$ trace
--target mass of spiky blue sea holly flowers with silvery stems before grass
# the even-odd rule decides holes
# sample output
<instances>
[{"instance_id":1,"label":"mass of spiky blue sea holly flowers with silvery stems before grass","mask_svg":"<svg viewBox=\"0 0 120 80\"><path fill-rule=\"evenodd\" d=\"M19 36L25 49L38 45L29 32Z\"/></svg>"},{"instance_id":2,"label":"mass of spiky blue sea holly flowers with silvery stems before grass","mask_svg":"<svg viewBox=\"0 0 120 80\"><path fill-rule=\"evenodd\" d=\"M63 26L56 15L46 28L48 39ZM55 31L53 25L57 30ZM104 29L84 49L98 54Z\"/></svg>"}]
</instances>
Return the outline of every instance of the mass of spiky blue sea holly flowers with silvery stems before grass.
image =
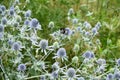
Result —
<instances>
[{"instance_id":1,"label":"mass of spiky blue sea holly flowers with silvery stems before grass","mask_svg":"<svg viewBox=\"0 0 120 80\"><path fill-rule=\"evenodd\" d=\"M20 10L19 5L19 0L8 9L0 5L0 73L5 80L120 80L120 59L114 60L114 67L109 68L107 60L95 56L101 44L96 36L102 26L100 22L94 27L87 21L82 23L70 8L69 27L64 28L64 33L51 33L53 42L49 44L37 33L42 30L39 20L31 17L31 10ZM54 27L51 21L48 28ZM65 47L69 42L75 42L70 50ZM10 67L4 65L5 58Z\"/></svg>"}]
</instances>

